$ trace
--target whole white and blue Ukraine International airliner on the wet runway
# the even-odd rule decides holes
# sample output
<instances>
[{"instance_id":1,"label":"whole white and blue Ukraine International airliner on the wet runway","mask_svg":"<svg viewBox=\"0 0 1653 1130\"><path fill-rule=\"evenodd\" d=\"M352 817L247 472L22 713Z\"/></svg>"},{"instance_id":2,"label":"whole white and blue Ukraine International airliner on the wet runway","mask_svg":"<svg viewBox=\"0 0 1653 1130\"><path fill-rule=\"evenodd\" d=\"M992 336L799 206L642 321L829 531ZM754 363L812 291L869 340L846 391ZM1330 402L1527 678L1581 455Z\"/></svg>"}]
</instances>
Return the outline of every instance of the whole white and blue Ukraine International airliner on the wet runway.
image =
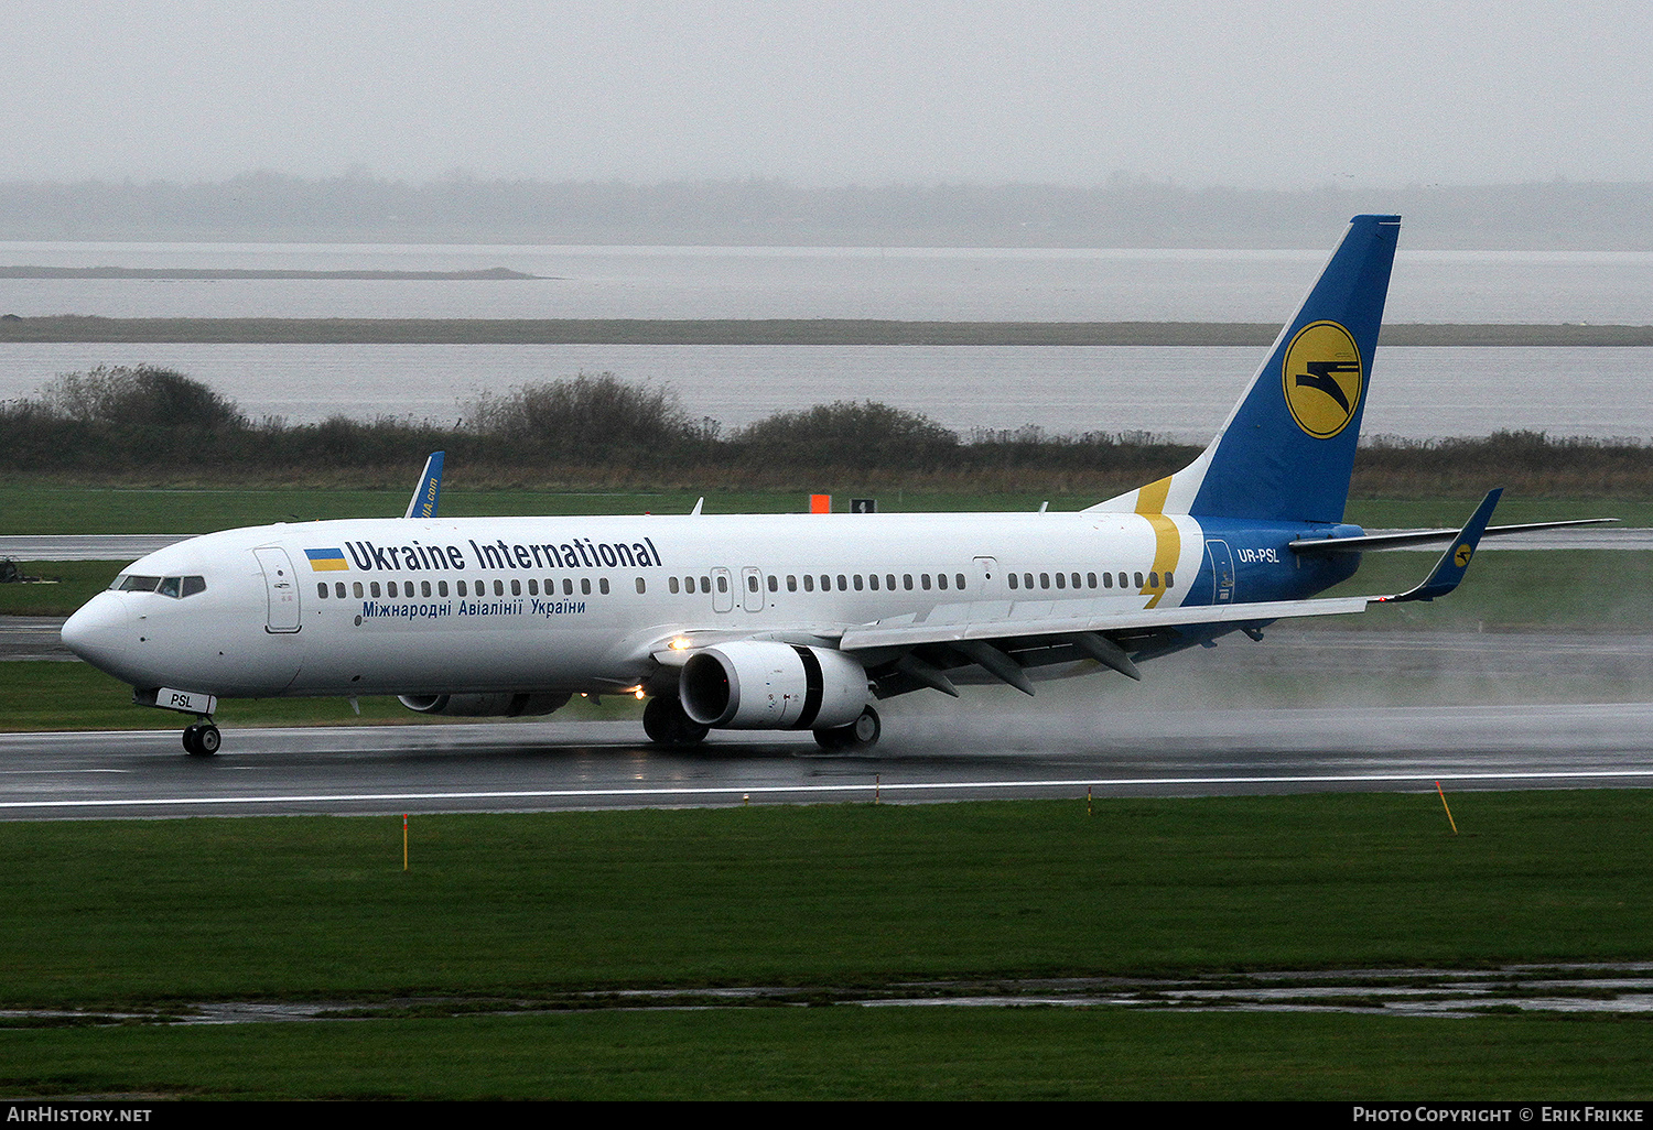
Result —
<instances>
[{"instance_id":1,"label":"whole white and blue Ukraine International airliner on the wet runway","mask_svg":"<svg viewBox=\"0 0 1653 1130\"><path fill-rule=\"evenodd\" d=\"M712 729L878 740L873 704L922 689L1137 664L1288 616L1431 600L1461 530L1344 524L1398 216L1355 216L1222 431L1187 468L1078 514L440 519L433 456L408 514L190 539L122 572L63 626L134 700L393 694L425 714L549 714L648 697L655 742ZM1560 525L1560 524L1547 524ZM1534 527L1503 527L1491 532ZM1311 600L1360 552L1451 539L1417 588Z\"/></svg>"}]
</instances>

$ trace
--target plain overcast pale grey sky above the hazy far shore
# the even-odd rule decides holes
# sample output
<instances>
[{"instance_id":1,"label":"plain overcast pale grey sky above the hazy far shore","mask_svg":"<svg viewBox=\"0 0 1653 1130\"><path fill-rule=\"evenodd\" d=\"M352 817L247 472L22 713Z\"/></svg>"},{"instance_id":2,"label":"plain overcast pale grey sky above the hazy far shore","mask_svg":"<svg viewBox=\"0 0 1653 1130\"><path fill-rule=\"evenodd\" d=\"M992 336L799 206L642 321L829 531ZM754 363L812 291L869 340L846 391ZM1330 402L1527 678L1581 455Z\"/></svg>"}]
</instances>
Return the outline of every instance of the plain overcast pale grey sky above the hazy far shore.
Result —
<instances>
[{"instance_id":1,"label":"plain overcast pale grey sky above the hazy far shore","mask_svg":"<svg viewBox=\"0 0 1653 1130\"><path fill-rule=\"evenodd\" d=\"M3 0L0 177L1653 180L1653 3Z\"/></svg>"}]
</instances>

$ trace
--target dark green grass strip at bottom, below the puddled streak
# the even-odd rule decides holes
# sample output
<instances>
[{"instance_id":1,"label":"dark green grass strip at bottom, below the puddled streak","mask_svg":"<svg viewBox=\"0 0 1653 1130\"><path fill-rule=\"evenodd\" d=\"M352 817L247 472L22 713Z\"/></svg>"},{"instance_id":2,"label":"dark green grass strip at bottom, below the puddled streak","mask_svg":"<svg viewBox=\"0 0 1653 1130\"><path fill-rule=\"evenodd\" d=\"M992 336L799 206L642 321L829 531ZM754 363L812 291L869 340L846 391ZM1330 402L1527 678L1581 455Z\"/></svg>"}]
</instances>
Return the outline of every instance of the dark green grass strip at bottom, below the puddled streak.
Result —
<instances>
[{"instance_id":1,"label":"dark green grass strip at bottom, below the puddled streak","mask_svg":"<svg viewBox=\"0 0 1653 1130\"><path fill-rule=\"evenodd\" d=\"M175 1099L1645 1100L1600 1016L770 1008L3 1034L0 1090Z\"/></svg>"}]
</instances>

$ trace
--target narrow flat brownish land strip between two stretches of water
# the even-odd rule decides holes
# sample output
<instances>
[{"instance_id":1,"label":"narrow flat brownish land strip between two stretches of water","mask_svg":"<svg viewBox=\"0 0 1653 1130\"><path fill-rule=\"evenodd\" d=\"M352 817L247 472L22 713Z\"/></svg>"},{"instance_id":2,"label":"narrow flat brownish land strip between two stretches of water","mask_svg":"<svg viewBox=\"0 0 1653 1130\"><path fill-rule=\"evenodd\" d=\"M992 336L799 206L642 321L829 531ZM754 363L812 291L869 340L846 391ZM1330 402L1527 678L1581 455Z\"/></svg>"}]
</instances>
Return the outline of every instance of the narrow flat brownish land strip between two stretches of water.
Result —
<instances>
[{"instance_id":1,"label":"narrow flat brownish land strip between two stretches of water","mask_svg":"<svg viewBox=\"0 0 1653 1130\"><path fill-rule=\"evenodd\" d=\"M0 342L271 345L1268 345L1251 322L18 317ZM1653 345L1653 325L1385 325L1384 345Z\"/></svg>"}]
</instances>

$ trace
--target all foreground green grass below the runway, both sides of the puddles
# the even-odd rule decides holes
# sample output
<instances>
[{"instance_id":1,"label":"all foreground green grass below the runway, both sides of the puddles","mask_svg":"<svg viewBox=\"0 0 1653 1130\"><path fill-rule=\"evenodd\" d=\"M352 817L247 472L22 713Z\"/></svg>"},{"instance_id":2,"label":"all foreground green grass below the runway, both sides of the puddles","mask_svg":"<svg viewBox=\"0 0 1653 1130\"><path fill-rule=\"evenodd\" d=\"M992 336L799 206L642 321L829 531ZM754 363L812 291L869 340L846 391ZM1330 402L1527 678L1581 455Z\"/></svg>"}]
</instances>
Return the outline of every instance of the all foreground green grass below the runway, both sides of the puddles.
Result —
<instances>
[{"instance_id":1,"label":"all foreground green grass below the runway, both sides of the puddles","mask_svg":"<svg viewBox=\"0 0 1653 1130\"><path fill-rule=\"evenodd\" d=\"M1650 957L1653 793L1458 795L1453 814L1456 836L1433 795L415 816L407 874L393 816L7 823L0 1004L430 1003L306 1024L0 1021L0 1092L1648 1097L1636 1016L562 996Z\"/></svg>"}]
</instances>

